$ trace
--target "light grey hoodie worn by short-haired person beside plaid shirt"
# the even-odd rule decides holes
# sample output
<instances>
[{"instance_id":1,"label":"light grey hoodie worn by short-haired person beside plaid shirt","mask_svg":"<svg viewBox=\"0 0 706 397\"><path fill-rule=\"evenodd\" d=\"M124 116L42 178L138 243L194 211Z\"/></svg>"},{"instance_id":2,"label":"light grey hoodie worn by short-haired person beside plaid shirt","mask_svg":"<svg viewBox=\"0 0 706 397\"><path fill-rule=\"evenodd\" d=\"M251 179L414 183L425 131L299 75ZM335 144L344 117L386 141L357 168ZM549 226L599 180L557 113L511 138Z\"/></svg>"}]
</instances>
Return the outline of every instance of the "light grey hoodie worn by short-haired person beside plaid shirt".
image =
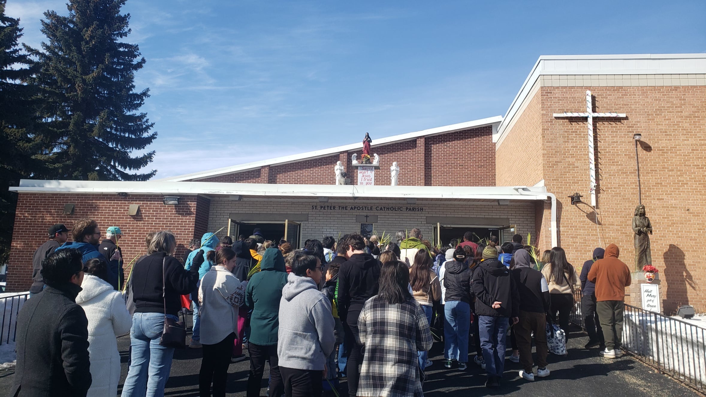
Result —
<instances>
[{"instance_id":1,"label":"light grey hoodie worn by short-haired person beside plaid shirt","mask_svg":"<svg viewBox=\"0 0 706 397\"><path fill-rule=\"evenodd\" d=\"M290 273L280 300L280 367L323 370L335 344L334 326L331 304L316 283Z\"/></svg>"}]
</instances>

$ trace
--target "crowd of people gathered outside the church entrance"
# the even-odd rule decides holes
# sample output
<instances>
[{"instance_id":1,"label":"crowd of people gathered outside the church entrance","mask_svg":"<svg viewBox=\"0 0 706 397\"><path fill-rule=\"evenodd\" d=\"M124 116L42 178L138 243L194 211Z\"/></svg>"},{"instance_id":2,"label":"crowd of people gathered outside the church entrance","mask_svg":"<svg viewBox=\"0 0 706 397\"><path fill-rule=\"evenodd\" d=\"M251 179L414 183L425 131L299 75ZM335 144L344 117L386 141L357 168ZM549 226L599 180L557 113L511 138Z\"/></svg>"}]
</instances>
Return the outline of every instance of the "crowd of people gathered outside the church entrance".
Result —
<instances>
[{"instance_id":1,"label":"crowd of people gathered outside the church entrance","mask_svg":"<svg viewBox=\"0 0 706 397\"><path fill-rule=\"evenodd\" d=\"M18 315L14 396L115 396L116 337L128 331L121 396L163 396L174 350L187 346L179 320L187 312L188 347L203 350L201 396L225 396L229 365L246 359L244 348L249 397L260 395L265 363L270 397L321 396L343 379L349 396L422 396L435 339L444 367L465 371L473 338L489 388L503 381L506 359L534 381L550 375L547 325L568 330L577 290L585 348L622 354L630 271L615 244L594 250L579 273L561 247L538 260L520 235L500 244L497 236L473 242L468 232L441 248L415 228L392 242L349 234L294 249L256 229L235 241L206 233L179 261L172 232L157 231L124 280L119 227L102 242L90 219L73 224L72 242L64 225L48 232Z\"/></svg>"}]
</instances>

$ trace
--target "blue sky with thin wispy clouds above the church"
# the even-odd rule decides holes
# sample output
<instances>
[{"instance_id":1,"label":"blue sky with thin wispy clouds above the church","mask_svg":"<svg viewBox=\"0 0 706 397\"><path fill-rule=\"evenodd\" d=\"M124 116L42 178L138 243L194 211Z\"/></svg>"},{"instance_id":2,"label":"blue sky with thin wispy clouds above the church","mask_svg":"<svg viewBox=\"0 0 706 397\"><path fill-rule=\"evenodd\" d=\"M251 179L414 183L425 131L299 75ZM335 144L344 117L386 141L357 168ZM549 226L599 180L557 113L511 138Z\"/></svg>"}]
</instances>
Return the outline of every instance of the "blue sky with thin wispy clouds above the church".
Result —
<instances>
[{"instance_id":1,"label":"blue sky with thin wispy clouds above the church","mask_svg":"<svg viewBox=\"0 0 706 397\"><path fill-rule=\"evenodd\" d=\"M7 0L23 42L47 9ZM504 115L543 54L706 52L705 1L128 0L157 177Z\"/></svg>"}]
</instances>

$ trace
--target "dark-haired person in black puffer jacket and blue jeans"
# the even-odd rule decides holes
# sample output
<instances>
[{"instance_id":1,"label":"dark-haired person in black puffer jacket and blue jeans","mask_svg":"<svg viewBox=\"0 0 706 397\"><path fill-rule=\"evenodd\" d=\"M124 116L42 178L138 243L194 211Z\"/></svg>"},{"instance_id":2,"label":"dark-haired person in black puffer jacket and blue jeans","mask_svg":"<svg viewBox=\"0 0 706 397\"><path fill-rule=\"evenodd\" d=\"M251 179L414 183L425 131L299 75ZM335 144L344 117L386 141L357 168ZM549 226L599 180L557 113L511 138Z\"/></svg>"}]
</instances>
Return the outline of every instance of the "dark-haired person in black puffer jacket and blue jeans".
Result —
<instances>
[{"instance_id":1,"label":"dark-haired person in black puffer jacket and blue jeans","mask_svg":"<svg viewBox=\"0 0 706 397\"><path fill-rule=\"evenodd\" d=\"M468 362L468 330L471 325L471 269L466 266L466 252L457 247L453 261L444 263L444 366L450 368L458 361L458 369L465 370Z\"/></svg>"}]
</instances>

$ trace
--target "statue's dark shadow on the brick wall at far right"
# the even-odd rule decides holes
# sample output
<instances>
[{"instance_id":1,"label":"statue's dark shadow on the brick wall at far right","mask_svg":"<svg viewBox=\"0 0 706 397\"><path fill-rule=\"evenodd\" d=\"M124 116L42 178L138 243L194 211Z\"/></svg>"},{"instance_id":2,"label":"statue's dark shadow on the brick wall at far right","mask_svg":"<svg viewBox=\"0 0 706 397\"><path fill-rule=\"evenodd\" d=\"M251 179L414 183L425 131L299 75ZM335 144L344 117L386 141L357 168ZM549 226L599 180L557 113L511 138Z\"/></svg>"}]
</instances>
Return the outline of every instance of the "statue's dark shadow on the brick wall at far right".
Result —
<instances>
[{"instance_id":1,"label":"statue's dark shadow on the brick wall at far right","mask_svg":"<svg viewBox=\"0 0 706 397\"><path fill-rule=\"evenodd\" d=\"M696 289L694 278L686 268L686 256L681 248L669 244L669 249L664 252L664 280L666 281L666 295L662 302L664 314L673 314L681 304L689 304L688 288Z\"/></svg>"}]
</instances>

